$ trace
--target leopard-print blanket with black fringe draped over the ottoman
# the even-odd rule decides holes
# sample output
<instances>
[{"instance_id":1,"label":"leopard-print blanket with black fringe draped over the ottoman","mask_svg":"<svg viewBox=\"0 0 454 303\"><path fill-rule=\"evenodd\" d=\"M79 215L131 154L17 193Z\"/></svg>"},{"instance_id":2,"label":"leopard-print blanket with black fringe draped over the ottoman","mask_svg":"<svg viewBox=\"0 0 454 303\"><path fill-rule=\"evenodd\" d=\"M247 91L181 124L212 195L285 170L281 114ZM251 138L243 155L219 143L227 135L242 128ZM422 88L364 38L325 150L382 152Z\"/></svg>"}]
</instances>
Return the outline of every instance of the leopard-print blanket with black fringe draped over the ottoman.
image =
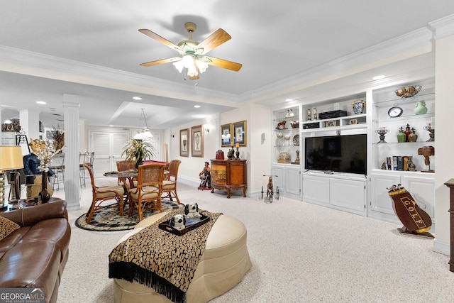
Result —
<instances>
[{"instance_id":1,"label":"leopard-print blanket with black fringe draped over the ottoman","mask_svg":"<svg viewBox=\"0 0 454 303\"><path fill-rule=\"evenodd\" d=\"M206 224L177 236L163 231L158 224L175 214L184 214L184 207L143 228L118 244L109 255L109 277L153 287L173 302L186 302L186 292L205 250L211 226L221 213L210 213Z\"/></svg>"}]
</instances>

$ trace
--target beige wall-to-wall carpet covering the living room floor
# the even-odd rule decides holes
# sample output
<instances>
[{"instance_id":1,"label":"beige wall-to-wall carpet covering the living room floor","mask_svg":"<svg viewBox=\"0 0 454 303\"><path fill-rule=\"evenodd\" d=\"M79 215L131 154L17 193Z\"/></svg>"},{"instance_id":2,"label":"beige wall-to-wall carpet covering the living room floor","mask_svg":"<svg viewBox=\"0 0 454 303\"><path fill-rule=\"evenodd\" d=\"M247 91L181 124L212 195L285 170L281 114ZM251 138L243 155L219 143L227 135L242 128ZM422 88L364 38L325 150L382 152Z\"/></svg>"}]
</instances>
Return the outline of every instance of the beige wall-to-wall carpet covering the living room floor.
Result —
<instances>
[{"instance_id":1,"label":"beige wall-to-wall carpet covering the living room floor","mask_svg":"<svg viewBox=\"0 0 454 303\"><path fill-rule=\"evenodd\" d=\"M240 192L226 199L225 192L198 191L197 185L178 185L182 202L243 221L253 262L243 282L211 302L454 302L449 258L432 251L431 239L314 204L283 197L270 204ZM82 210L70 212L70 259L58 302L114 302L108 255L128 231L74 227L90 194L84 189Z\"/></svg>"}]
</instances>

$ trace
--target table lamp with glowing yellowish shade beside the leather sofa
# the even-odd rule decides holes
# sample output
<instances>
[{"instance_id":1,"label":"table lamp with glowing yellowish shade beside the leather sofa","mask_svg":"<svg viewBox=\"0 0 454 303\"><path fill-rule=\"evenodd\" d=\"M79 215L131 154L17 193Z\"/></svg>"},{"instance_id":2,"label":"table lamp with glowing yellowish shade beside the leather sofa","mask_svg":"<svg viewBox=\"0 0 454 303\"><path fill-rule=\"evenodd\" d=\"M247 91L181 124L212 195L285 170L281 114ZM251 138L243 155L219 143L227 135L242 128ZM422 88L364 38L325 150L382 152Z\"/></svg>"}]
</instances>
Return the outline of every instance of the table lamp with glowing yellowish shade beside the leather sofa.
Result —
<instances>
[{"instance_id":1,"label":"table lamp with glowing yellowish shade beside the leather sofa","mask_svg":"<svg viewBox=\"0 0 454 303\"><path fill-rule=\"evenodd\" d=\"M2 175L0 177L0 207L4 206L5 203L5 177L3 172L6 170L18 170L21 168L23 168L21 146L0 145L0 173ZM13 182L11 182L11 189L14 189L13 199L21 199L21 184L19 181L19 173L13 172L13 174L11 175L13 175Z\"/></svg>"}]
</instances>

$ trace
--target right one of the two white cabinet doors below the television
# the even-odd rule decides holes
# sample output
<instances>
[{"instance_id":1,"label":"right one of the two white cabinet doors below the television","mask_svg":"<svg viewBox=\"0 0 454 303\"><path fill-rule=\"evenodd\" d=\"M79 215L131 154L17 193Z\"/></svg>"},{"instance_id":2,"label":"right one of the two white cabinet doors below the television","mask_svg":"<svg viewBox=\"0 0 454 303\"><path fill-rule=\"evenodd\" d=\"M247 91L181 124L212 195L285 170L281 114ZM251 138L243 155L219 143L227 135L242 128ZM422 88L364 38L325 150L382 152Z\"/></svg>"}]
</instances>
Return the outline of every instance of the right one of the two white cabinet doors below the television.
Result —
<instances>
[{"instance_id":1,"label":"right one of the two white cabinet doors below the television","mask_svg":"<svg viewBox=\"0 0 454 303\"><path fill-rule=\"evenodd\" d=\"M355 214L366 214L366 182L359 180L330 180L330 204L350 209Z\"/></svg>"}]
</instances>

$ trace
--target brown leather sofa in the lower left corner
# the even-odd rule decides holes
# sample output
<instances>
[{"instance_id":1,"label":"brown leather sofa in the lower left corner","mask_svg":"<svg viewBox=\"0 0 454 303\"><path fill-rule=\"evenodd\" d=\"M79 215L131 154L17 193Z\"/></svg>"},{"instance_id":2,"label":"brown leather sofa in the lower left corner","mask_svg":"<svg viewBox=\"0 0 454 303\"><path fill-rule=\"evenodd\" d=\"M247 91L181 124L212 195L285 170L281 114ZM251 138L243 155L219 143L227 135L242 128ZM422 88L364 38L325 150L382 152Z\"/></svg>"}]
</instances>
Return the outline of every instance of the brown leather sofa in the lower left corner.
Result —
<instances>
[{"instance_id":1,"label":"brown leather sofa in the lower left corner","mask_svg":"<svg viewBox=\"0 0 454 303\"><path fill-rule=\"evenodd\" d=\"M0 288L44 288L45 301L57 302L71 238L66 202L50 198L0 216L20 226L0 241Z\"/></svg>"}]
</instances>

